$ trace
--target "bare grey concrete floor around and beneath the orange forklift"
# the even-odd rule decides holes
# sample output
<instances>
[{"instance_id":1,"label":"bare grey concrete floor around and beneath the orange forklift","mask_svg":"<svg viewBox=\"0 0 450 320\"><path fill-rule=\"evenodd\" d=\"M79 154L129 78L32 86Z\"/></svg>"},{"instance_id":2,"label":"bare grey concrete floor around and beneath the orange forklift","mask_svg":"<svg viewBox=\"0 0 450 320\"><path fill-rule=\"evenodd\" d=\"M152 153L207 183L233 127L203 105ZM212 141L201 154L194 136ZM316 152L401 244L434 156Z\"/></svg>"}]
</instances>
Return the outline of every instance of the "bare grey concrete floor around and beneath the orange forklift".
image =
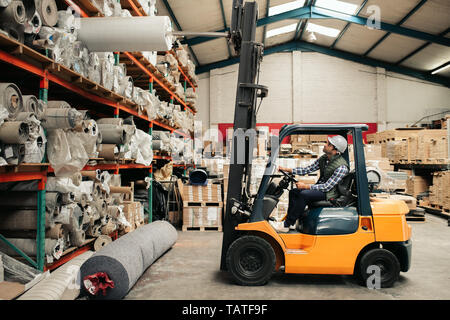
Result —
<instances>
[{"instance_id":1,"label":"bare grey concrete floor around and beneath the orange forklift","mask_svg":"<svg viewBox=\"0 0 450 320\"><path fill-rule=\"evenodd\" d=\"M411 222L411 269L393 288L369 290L350 276L276 273L263 287L235 285L219 271L222 233L179 231L174 247L156 261L125 299L335 300L450 299L450 227L440 217Z\"/></svg>"}]
</instances>

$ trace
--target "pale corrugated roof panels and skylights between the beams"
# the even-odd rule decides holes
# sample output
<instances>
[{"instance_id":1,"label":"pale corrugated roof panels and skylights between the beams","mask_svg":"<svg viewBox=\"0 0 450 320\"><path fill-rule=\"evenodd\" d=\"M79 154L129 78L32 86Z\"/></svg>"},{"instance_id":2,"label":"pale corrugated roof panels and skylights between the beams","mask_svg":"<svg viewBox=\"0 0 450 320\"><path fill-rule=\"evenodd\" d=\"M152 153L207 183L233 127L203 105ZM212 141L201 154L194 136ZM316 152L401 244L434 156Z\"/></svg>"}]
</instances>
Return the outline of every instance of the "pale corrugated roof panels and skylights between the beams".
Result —
<instances>
[{"instance_id":1,"label":"pale corrugated roof panels and skylights between the beams","mask_svg":"<svg viewBox=\"0 0 450 320\"><path fill-rule=\"evenodd\" d=\"M224 12L222 13L220 2ZM259 6L258 18L266 17L267 6L274 7L292 0L257 0ZM367 18L373 16L373 9L379 9L382 29L369 29L361 25L361 21L350 21L337 18L318 19L318 16L309 16L309 23L338 29L341 34L338 38L325 36L317 32L311 37L310 32L303 31L304 20L290 19L260 26L257 28L257 41L263 42L264 29L272 30L281 26L302 22L298 33L290 32L265 39L267 48L279 46L283 43L295 43L295 35L302 34L299 41L309 42L321 48L337 50L338 52L352 53L363 58L372 59L381 63L400 65L422 73L442 66L450 61L450 46L430 43L436 38L429 38L428 34L438 39L448 39L450 27L450 1L448 0L339 0L356 4L360 9L358 16L346 16L351 19ZM315 0L306 0L305 5L314 7ZM233 0L157 0L158 15L170 16L178 21L185 31L222 31L229 28L231 23ZM168 6L170 10L168 10ZM361 6L363 6L361 8ZM375 7L374 7L375 6ZM225 20L223 19L225 16ZM270 18L271 19L271 18ZM350 21L350 22L349 22ZM174 24L176 25L176 23ZM176 27L175 27L176 28ZM391 29L389 29L391 28ZM392 29L394 28L394 29ZM397 28L397 29L395 29ZM399 29L401 28L401 30ZM407 28L407 29L405 29ZM177 29L177 28L176 28ZM412 29L412 31L410 30ZM394 30L392 33L389 30ZM406 30L406 31L405 31ZM397 32L399 31L399 32ZM419 36L415 33L419 31ZM404 33L406 32L406 34ZM403 34L402 34L403 33ZM315 38L315 39L312 39ZM430 40L431 39L431 40ZM192 39L188 39L192 40ZM192 50L198 58L200 66L214 64L230 58L225 39L213 39L192 45ZM434 41L439 42L439 41ZM442 42L442 41L441 41ZM420 49L420 50L419 50ZM321 50L323 51L323 50ZM417 52L415 52L417 51ZM398 64L400 62L400 64ZM198 66L199 67L199 66ZM447 70L439 76L450 77Z\"/></svg>"}]
</instances>

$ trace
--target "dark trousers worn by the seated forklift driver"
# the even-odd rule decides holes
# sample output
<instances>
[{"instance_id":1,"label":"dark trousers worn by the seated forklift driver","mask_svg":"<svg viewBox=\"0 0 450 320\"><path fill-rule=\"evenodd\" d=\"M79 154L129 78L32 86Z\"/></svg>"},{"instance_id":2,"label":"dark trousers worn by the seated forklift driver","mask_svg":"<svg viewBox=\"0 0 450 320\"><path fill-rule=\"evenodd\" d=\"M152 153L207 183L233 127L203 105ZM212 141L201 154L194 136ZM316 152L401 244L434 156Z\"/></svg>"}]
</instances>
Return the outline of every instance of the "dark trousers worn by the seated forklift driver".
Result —
<instances>
[{"instance_id":1,"label":"dark trousers worn by the seated forklift driver","mask_svg":"<svg viewBox=\"0 0 450 320\"><path fill-rule=\"evenodd\" d=\"M289 191L289 208L284 226L295 224L298 218L304 217L305 207L313 202L326 200L326 195L318 190L292 189Z\"/></svg>"}]
</instances>

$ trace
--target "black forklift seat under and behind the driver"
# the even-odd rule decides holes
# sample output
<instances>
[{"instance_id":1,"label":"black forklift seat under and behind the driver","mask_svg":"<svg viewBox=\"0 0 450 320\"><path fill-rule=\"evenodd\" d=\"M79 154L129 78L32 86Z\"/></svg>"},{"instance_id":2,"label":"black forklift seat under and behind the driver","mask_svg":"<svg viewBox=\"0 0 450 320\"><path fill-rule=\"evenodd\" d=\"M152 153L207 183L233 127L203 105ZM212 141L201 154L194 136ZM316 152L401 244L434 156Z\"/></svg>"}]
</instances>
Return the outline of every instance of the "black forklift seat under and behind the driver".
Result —
<instances>
[{"instance_id":1,"label":"black forklift seat under and behind the driver","mask_svg":"<svg viewBox=\"0 0 450 320\"><path fill-rule=\"evenodd\" d=\"M349 172L338 184L339 197L330 200L321 200L311 203L312 208L342 208L356 204L356 197L352 194L352 185L356 183L355 171Z\"/></svg>"}]
</instances>

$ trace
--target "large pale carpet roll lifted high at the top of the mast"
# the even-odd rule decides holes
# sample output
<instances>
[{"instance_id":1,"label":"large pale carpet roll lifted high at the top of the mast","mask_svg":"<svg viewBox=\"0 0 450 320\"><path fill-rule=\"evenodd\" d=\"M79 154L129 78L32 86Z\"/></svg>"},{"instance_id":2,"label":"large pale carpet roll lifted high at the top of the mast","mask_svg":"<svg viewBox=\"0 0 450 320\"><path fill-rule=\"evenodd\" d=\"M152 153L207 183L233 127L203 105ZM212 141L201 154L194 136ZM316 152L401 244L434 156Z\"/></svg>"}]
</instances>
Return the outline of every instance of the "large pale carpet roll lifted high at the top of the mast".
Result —
<instances>
[{"instance_id":1,"label":"large pale carpet roll lifted high at the top of the mast","mask_svg":"<svg viewBox=\"0 0 450 320\"><path fill-rule=\"evenodd\" d=\"M172 26L169 17L102 17L79 20L78 38L90 51L172 49Z\"/></svg>"}]
</instances>

